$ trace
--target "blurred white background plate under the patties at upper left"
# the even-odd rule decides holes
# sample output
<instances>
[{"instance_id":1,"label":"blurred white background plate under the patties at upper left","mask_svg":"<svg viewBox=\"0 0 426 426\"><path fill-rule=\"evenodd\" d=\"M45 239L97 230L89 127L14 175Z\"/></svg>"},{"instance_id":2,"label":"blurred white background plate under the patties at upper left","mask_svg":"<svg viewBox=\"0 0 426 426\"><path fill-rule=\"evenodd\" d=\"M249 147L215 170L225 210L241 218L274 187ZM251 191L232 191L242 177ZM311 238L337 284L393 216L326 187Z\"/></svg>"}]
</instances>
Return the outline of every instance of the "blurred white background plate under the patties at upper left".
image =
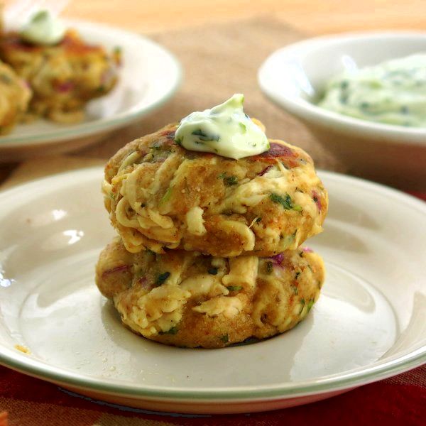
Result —
<instances>
[{"instance_id":1,"label":"blurred white background plate under the patties at upper left","mask_svg":"<svg viewBox=\"0 0 426 426\"><path fill-rule=\"evenodd\" d=\"M148 38L97 23L67 21L67 24L76 28L88 43L102 45L108 51L121 48L119 82L107 96L89 102L82 123L62 125L38 120L19 124L9 135L0 136L0 162L87 145L160 107L180 84L178 61Z\"/></svg>"}]
</instances>

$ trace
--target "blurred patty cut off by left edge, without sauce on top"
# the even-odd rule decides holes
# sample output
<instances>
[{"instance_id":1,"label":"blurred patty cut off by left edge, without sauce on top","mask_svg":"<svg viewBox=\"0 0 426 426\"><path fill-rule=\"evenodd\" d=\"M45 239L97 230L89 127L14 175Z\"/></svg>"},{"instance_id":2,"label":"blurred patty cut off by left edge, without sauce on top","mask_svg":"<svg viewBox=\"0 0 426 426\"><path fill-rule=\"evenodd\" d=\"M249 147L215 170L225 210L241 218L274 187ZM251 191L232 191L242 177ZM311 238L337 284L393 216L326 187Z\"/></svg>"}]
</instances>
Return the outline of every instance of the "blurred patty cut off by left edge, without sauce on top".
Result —
<instances>
[{"instance_id":1,"label":"blurred patty cut off by left edge, without sauce on top","mask_svg":"<svg viewBox=\"0 0 426 426\"><path fill-rule=\"evenodd\" d=\"M30 98L26 83L0 61L0 135L9 133L22 118Z\"/></svg>"}]
</instances>

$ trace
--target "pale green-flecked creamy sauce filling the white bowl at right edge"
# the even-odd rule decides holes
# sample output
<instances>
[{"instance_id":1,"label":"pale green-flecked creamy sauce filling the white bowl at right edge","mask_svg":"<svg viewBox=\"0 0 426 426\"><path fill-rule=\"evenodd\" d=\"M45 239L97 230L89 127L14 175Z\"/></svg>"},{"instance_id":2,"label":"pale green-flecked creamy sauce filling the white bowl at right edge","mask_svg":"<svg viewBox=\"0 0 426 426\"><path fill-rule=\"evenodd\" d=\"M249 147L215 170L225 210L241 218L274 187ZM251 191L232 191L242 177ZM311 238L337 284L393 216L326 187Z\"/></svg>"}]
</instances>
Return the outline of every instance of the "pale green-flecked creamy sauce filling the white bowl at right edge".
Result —
<instances>
[{"instance_id":1,"label":"pale green-flecked creamy sauce filling the white bowl at right edge","mask_svg":"<svg viewBox=\"0 0 426 426\"><path fill-rule=\"evenodd\" d=\"M357 119L426 127L426 54L334 77L318 106Z\"/></svg>"}]
</instances>

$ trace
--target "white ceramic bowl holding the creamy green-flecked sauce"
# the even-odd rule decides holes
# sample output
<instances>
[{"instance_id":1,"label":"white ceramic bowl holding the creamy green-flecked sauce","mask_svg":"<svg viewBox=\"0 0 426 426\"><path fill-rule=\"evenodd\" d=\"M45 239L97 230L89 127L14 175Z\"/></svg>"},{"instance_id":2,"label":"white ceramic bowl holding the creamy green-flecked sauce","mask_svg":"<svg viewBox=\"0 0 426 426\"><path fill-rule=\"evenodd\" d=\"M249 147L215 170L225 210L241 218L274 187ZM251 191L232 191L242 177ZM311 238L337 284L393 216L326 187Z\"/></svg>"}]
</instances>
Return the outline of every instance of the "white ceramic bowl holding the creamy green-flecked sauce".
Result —
<instances>
[{"instance_id":1,"label":"white ceramic bowl holding the creamy green-flecked sauce","mask_svg":"<svg viewBox=\"0 0 426 426\"><path fill-rule=\"evenodd\" d=\"M275 51L258 82L300 119L350 173L403 189L426 190L426 128L354 119L317 107L324 84L348 68L426 52L426 33L354 33L312 38Z\"/></svg>"}]
</instances>

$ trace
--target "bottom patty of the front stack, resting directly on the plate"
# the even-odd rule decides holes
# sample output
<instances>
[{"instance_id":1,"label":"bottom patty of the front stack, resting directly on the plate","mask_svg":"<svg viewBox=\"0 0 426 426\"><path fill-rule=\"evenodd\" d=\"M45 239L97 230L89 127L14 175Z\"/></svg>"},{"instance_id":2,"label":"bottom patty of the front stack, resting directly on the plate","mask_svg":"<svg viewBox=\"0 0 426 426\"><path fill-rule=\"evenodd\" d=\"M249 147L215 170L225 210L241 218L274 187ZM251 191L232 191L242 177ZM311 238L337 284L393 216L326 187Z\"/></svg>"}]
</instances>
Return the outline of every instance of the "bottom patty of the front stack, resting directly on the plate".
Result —
<instances>
[{"instance_id":1,"label":"bottom patty of the front stack, resting directly on the plate","mask_svg":"<svg viewBox=\"0 0 426 426\"><path fill-rule=\"evenodd\" d=\"M97 286L126 327L185 347L220 348L285 332L306 317L323 282L322 258L302 248L268 258L130 253L116 237L96 267Z\"/></svg>"}]
</instances>

